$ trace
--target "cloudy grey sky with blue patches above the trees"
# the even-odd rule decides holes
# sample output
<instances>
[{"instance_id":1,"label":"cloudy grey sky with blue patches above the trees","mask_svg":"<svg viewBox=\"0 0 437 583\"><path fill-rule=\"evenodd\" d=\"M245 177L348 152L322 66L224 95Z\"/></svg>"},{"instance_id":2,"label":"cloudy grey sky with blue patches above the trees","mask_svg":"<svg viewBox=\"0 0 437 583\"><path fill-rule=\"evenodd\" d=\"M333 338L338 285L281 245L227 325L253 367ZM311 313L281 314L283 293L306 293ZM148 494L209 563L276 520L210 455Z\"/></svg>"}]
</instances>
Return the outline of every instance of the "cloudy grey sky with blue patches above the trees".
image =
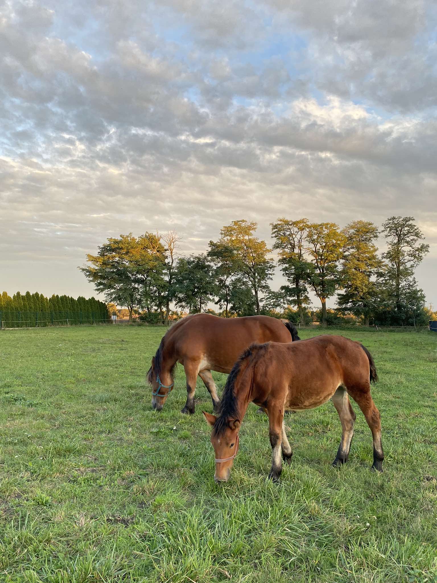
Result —
<instances>
[{"instance_id":1,"label":"cloudy grey sky with blue patches above the trees","mask_svg":"<svg viewBox=\"0 0 437 583\"><path fill-rule=\"evenodd\" d=\"M0 0L0 290L89 297L121 233L408 215L437 307L436 31L434 0Z\"/></svg>"}]
</instances>

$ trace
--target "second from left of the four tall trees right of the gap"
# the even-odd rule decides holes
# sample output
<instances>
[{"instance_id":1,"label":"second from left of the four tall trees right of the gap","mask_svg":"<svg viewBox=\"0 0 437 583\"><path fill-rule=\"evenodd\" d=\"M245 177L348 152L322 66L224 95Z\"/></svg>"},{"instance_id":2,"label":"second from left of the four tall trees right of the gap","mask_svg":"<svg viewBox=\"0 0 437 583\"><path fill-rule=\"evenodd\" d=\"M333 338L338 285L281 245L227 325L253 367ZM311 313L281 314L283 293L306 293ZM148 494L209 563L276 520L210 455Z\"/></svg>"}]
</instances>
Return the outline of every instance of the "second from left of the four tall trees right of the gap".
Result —
<instances>
[{"instance_id":1,"label":"second from left of the four tall trees right of the gap","mask_svg":"<svg viewBox=\"0 0 437 583\"><path fill-rule=\"evenodd\" d=\"M310 223L306 251L312 258L308 281L322 304L322 324L327 324L326 299L340 287L339 261L346 237L335 223Z\"/></svg>"}]
</instances>

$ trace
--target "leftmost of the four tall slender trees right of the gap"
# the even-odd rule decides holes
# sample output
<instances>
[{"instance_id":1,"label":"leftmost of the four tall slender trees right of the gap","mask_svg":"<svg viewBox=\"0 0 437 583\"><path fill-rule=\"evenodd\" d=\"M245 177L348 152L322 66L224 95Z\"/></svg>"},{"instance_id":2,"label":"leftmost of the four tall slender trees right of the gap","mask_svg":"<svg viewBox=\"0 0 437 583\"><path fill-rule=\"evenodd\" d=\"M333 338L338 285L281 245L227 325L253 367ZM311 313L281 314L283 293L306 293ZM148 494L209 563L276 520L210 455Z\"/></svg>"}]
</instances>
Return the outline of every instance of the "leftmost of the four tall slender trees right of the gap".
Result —
<instances>
[{"instance_id":1,"label":"leftmost of the four tall slender trees right of the gap","mask_svg":"<svg viewBox=\"0 0 437 583\"><path fill-rule=\"evenodd\" d=\"M273 248L279 250L279 265L289 285L281 286L292 305L305 323L304 306L310 303L308 296L308 261L305 258L305 236L308 219L289 220L285 217L270 223Z\"/></svg>"}]
</instances>

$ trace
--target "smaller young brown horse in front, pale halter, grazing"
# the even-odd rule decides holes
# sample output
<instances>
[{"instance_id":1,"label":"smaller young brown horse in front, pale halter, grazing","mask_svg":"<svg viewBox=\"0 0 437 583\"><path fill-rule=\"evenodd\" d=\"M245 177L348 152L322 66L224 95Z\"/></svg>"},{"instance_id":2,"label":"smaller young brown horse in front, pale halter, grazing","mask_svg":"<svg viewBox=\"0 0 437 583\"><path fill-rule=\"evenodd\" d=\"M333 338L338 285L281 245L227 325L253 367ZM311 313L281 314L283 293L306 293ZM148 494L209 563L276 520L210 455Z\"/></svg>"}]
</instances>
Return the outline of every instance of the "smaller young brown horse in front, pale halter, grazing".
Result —
<instances>
[{"instance_id":1,"label":"smaller young brown horse in front, pale halter, grazing","mask_svg":"<svg viewBox=\"0 0 437 583\"><path fill-rule=\"evenodd\" d=\"M384 454L381 422L370 393L377 381L369 351L343 336L317 336L291 344L250 346L228 376L218 417L203 412L213 427L211 442L216 454L216 482L227 482L238 451L238 433L249 403L262 406L269 416L272 468L278 480L281 451L289 462L292 451L284 428L284 410L305 410L332 399L343 434L333 465L347 461L354 431L355 413L350 395L358 404L373 436L373 469L382 472Z\"/></svg>"}]
</instances>

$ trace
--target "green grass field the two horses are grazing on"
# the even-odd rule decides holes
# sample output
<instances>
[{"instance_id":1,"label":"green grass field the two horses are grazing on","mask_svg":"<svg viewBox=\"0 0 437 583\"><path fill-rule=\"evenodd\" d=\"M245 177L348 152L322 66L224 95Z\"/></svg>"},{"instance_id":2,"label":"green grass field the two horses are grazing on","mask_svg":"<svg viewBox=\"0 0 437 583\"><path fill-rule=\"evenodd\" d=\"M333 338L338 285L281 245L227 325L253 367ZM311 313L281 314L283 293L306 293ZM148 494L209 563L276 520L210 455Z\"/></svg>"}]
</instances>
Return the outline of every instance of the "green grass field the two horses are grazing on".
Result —
<instances>
[{"instance_id":1,"label":"green grass field the two horses are grazing on","mask_svg":"<svg viewBox=\"0 0 437 583\"><path fill-rule=\"evenodd\" d=\"M302 338L315 335L304 331ZM280 483L267 417L251 405L227 484L198 381L164 410L145 373L162 328L0 332L0 581L437 581L437 334L344 332L373 353L385 472L357 412L346 466L330 465L332 403L286 417L294 455ZM225 375L214 373L221 393Z\"/></svg>"}]
</instances>

